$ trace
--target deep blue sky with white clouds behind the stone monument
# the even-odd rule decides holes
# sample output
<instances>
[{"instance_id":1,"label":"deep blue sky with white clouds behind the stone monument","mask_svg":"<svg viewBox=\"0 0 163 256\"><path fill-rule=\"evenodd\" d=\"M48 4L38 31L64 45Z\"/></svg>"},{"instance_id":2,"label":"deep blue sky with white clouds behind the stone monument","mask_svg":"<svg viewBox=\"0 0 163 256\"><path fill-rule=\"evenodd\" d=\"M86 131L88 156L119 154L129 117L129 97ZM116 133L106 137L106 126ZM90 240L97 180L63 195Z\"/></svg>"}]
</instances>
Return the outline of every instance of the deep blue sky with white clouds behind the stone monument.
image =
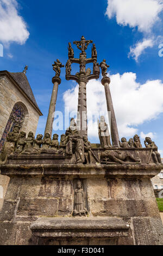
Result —
<instances>
[{"instance_id":1,"label":"deep blue sky with white clouds behind the stone monument","mask_svg":"<svg viewBox=\"0 0 163 256\"><path fill-rule=\"evenodd\" d=\"M163 157L163 57L158 54L163 43L162 1L49 0L45 4L0 0L0 4L0 43L4 46L0 70L21 72L29 66L27 78L43 113L36 133L43 134L45 129L53 87L52 63L59 58L66 64L68 42L84 35L96 44L98 62L106 58L110 65L120 137L129 139L138 133L143 144L143 138L150 135ZM78 57L79 50L72 46ZM87 49L90 56L91 46ZM79 70L77 65L72 68L72 74ZM64 112L65 106L75 111L77 84L65 80L64 68L61 80L56 111ZM87 105L90 112L106 109L100 80L87 84ZM59 135L63 132L57 131ZM89 129L89 139L99 142L96 130Z\"/></svg>"}]
</instances>

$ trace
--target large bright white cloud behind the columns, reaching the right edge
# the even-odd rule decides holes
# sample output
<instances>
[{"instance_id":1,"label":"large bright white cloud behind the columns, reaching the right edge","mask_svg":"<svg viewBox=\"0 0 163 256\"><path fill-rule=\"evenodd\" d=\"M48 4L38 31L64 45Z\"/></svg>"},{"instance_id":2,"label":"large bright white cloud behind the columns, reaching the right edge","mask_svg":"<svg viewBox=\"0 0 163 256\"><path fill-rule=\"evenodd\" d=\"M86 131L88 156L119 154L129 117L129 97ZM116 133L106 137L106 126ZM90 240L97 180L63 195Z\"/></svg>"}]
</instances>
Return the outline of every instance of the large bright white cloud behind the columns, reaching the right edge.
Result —
<instances>
[{"instance_id":1,"label":"large bright white cloud behind the columns, reaching the right edge","mask_svg":"<svg viewBox=\"0 0 163 256\"><path fill-rule=\"evenodd\" d=\"M158 117L163 112L163 84L160 80L136 82L136 74L111 75L110 90L117 119L120 137L131 137L138 133L136 126ZM64 93L65 106L77 111L78 86ZM73 103L72 103L73 102ZM100 81L92 80L87 84L88 135L98 138L97 119L91 127L91 115L106 112L104 87Z\"/></svg>"}]
</instances>

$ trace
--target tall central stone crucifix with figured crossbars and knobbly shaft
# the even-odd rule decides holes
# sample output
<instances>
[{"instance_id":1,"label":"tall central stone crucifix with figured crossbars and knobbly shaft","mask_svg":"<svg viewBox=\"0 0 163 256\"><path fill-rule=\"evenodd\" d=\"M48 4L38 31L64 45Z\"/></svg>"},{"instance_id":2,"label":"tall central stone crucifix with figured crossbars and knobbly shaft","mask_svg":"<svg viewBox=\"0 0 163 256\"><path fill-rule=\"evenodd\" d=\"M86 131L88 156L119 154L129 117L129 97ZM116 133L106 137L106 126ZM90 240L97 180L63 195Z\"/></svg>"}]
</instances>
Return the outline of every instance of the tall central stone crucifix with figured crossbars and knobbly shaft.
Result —
<instances>
[{"instance_id":1,"label":"tall central stone crucifix with figured crossbars and knobbly shaft","mask_svg":"<svg viewBox=\"0 0 163 256\"><path fill-rule=\"evenodd\" d=\"M82 51L80 57L74 58L74 52L71 43L68 43L68 60L66 63L66 80L74 80L79 84L79 95L78 95L78 114L77 114L77 128L80 131L80 135L87 136L87 105L86 105L86 84L92 79L99 78L99 64L97 63L97 51L96 46L92 46L92 57L86 58L87 46L92 43L92 40L86 40L82 36L80 41L74 41L78 49ZM78 63L80 71L76 75L71 75L71 64ZM93 63L93 72L90 68L86 69L86 64ZM92 72L92 74L91 74Z\"/></svg>"}]
</instances>

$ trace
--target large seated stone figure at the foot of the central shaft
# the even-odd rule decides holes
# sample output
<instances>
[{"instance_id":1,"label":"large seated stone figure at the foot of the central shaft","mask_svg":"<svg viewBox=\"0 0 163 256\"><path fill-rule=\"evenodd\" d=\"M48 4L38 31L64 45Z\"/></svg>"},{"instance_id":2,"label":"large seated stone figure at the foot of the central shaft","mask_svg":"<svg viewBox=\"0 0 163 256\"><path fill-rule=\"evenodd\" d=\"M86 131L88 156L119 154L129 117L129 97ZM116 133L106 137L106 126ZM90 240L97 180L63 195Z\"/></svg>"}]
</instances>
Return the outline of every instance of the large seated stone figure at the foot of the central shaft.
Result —
<instances>
[{"instance_id":1,"label":"large seated stone figure at the foot of the central shaft","mask_svg":"<svg viewBox=\"0 0 163 256\"><path fill-rule=\"evenodd\" d=\"M66 130L67 147L66 154L76 155L76 163L84 163L84 143L83 138L80 136L79 131L76 128L77 124L74 118L71 118L70 127Z\"/></svg>"}]
</instances>

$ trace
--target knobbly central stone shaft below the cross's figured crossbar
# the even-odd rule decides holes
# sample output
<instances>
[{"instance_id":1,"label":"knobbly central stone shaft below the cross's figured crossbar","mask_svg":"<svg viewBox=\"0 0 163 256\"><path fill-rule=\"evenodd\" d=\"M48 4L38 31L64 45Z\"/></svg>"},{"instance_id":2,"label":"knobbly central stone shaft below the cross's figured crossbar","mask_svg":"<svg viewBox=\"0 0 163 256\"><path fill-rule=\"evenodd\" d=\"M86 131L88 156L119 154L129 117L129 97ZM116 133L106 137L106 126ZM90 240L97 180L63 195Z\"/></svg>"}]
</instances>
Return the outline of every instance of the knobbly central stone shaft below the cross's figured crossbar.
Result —
<instances>
[{"instance_id":1,"label":"knobbly central stone shaft below the cross's figured crossbar","mask_svg":"<svg viewBox=\"0 0 163 256\"><path fill-rule=\"evenodd\" d=\"M86 83L87 77L80 75L79 83L79 96L78 96L78 117L77 127L80 130L80 135L87 136L87 107L86 107Z\"/></svg>"}]
</instances>

